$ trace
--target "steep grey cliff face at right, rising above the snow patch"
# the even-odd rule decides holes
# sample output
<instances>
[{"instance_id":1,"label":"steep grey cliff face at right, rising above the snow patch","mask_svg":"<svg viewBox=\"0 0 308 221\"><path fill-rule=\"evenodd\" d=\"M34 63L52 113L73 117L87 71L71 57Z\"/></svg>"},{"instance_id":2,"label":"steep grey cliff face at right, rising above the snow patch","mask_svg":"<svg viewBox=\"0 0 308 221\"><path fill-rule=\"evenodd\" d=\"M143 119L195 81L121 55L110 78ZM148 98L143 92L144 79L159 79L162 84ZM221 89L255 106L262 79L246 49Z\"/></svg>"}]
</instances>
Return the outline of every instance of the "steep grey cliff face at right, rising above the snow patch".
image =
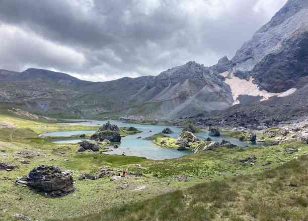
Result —
<instances>
[{"instance_id":1,"label":"steep grey cliff face at right, rising above the snow patch","mask_svg":"<svg viewBox=\"0 0 308 221\"><path fill-rule=\"evenodd\" d=\"M254 78L269 92L283 92L308 76L308 2L289 0L232 59L235 75Z\"/></svg>"}]
</instances>

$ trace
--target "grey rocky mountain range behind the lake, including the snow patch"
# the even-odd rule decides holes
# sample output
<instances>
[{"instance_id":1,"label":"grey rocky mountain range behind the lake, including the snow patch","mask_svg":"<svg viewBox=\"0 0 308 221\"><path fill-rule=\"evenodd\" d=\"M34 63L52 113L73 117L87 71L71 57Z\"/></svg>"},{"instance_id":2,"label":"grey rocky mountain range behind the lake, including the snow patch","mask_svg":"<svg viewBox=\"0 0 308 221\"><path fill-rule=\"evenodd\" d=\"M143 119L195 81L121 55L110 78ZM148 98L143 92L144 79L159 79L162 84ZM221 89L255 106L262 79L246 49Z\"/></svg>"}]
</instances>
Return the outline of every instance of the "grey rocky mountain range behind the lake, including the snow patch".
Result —
<instances>
[{"instance_id":1,"label":"grey rocky mountain range behind the lake, including the snow patch","mask_svg":"<svg viewBox=\"0 0 308 221\"><path fill-rule=\"evenodd\" d=\"M0 105L58 117L169 120L252 106L268 107L271 113L272 103L306 105L307 61L308 2L289 0L231 60L225 56L211 67L190 61L157 76L105 82L43 69L0 70Z\"/></svg>"}]
</instances>

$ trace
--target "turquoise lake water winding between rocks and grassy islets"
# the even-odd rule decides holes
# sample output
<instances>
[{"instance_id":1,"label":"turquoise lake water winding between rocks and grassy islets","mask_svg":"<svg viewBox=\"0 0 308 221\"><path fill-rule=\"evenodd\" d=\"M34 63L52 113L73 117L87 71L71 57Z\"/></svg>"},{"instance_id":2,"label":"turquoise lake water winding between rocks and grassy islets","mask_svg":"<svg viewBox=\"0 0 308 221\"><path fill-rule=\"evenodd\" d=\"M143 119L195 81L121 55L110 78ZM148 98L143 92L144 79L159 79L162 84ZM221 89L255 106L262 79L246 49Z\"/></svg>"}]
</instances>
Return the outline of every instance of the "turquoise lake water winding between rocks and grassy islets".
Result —
<instances>
[{"instance_id":1,"label":"turquoise lake water winding between rocks and grassy islets","mask_svg":"<svg viewBox=\"0 0 308 221\"><path fill-rule=\"evenodd\" d=\"M148 159L155 159L155 160L179 158L187 154L192 154L192 152L190 151L178 151L176 149L162 148L154 145L152 141L137 139L137 137L145 138L160 133L166 127L169 127L174 132L174 134L171 134L169 136L173 138L178 138L182 131L182 128L178 128L175 126L127 124L121 121L110 121L110 123L115 124L119 127L135 127L138 130L142 131L142 133L129 135L122 138L119 148L115 149L113 148L113 146L110 146L110 149L112 149L113 151L106 152L106 154L118 154L118 155L125 154L128 156L146 157ZM103 124L106 124L106 121L68 123L68 125L103 125ZM94 133L94 132L95 131L57 131L57 132L45 133L43 135L69 137L72 135ZM201 133L195 133L195 136L198 137L200 140L204 140L209 137L208 131L206 130L203 130ZM225 136L211 137L211 139L214 141L221 141L222 139L224 139L241 147L252 145L249 142L240 141L239 139L225 137ZM55 143L77 143L82 140L84 139L81 138L53 139Z\"/></svg>"}]
</instances>

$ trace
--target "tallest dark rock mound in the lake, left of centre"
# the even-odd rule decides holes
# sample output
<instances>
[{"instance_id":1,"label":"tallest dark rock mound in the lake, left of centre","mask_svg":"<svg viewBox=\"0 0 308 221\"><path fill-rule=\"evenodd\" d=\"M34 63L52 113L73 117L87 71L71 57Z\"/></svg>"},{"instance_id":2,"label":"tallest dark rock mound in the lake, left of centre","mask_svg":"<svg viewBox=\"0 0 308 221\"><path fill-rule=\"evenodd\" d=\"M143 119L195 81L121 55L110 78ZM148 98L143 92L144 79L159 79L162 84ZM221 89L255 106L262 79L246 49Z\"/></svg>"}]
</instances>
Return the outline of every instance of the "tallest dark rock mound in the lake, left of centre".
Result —
<instances>
[{"instance_id":1,"label":"tallest dark rock mound in the lake, left of centre","mask_svg":"<svg viewBox=\"0 0 308 221\"><path fill-rule=\"evenodd\" d=\"M107 122L107 124L100 127L98 131L91 136L90 139L97 141L109 140L110 142L120 142L120 129L118 128L118 126L112 125L110 124L110 122Z\"/></svg>"}]
</instances>

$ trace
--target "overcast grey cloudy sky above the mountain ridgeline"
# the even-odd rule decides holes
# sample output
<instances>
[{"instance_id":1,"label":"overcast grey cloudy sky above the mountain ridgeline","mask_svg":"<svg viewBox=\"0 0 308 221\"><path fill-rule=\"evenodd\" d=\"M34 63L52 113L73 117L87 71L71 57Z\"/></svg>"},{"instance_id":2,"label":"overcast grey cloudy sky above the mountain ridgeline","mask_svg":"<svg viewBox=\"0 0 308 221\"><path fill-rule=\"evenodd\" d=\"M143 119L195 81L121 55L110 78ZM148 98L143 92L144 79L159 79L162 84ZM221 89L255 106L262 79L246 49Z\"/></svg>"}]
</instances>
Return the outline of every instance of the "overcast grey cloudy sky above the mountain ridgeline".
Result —
<instances>
[{"instance_id":1,"label":"overcast grey cloudy sky above the mountain ridgeline","mask_svg":"<svg viewBox=\"0 0 308 221\"><path fill-rule=\"evenodd\" d=\"M0 69L83 80L235 55L287 0L0 0Z\"/></svg>"}]
</instances>

